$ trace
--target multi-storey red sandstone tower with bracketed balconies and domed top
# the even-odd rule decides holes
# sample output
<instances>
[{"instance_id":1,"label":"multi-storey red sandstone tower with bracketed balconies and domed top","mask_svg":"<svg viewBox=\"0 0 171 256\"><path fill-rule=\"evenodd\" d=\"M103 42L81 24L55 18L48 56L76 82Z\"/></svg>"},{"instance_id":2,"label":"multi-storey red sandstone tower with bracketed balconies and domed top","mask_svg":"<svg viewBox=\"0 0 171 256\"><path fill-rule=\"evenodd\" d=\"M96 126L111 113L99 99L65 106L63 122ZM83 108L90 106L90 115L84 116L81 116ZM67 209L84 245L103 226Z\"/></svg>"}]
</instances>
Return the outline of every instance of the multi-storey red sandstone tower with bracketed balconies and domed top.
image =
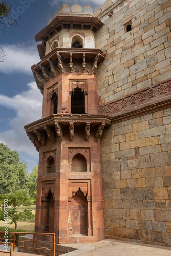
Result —
<instances>
[{"instance_id":1,"label":"multi-storey red sandstone tower with bracketed balconies and domed top","mask_svg":"<svg viewBox=\"0 0 171 256\"><path fill-rule=\"evenodd\" d=\"M104 238L96 68L105 58L94 35L103 25L92 9L63 5L35 40L32 66L44 96L42 119L25 126L39 151L35 232L55 232L57 243Z\"/></svg>"}]
</instances>

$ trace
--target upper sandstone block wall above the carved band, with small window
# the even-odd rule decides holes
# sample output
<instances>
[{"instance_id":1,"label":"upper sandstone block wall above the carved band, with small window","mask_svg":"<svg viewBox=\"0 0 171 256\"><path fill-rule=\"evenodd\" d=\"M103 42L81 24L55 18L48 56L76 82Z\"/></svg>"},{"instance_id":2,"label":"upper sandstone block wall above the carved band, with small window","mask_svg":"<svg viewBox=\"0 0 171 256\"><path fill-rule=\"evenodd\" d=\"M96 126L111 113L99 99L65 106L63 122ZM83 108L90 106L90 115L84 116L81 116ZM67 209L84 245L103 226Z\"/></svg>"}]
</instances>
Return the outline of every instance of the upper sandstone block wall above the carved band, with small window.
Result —
<instances>
[{"instance_id":1,"label":"upper sandstone block wall above the carved band, with small window","mask_svg":"<svg viewBox=\"0 0 171 256\"><path fill-rule=\"evenodd\" d=\"M118 0L97 17L104 25L95 44L106 54L97 72L101 104L171 77L169 0ZM128 22L132 30L125 33Z\"/></svg>"}]
</instances>

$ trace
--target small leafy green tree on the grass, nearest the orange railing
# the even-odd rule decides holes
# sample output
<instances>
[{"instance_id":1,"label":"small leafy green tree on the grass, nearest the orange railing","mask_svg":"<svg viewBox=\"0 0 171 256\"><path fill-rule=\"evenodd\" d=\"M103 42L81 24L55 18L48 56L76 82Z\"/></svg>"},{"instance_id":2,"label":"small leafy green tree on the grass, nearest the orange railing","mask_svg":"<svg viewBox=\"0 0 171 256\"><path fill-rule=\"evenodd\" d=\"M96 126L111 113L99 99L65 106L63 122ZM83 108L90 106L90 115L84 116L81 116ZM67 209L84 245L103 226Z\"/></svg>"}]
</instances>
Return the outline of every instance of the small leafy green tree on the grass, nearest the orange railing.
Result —
<instances>
[{"instance_id":1,"label":"small leafy green tree on the grass, nearest the orange railing","mask_svg":"<svg viewBox=\"0 0 171 256\"><path fill-rule=\"evenodd\" d=\"M8 200L8 216L11 219L9 224L14 223L15 230L17 229L18 221L26 221L26 219L31 220L35 217L31 210L25 209L24 211L17 211L17 208L20 206L27 207L32 204L32 199L27 195L25 190L17 190L14 193L2 194L0 198L0 220L4 220L4 200L6 199Z\"/></svg>"}]
</instances>

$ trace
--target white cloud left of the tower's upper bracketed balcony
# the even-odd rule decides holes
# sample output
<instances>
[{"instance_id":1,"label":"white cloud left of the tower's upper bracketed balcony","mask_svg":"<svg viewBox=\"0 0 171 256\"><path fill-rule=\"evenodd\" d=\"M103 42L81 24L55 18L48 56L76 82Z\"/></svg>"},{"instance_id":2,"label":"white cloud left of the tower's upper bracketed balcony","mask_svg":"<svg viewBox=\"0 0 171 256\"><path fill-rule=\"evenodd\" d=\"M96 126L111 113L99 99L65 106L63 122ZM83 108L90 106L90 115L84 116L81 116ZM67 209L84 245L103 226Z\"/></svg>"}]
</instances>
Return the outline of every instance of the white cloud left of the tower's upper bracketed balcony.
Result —
<instances>
[{"instance_id":1,"label":"white cloud left of the tower's upper bracketed balcony","mask_svg":"<svg viewBox=\"0 0 171 256\"><path fill-rule=\"evenodd\" d=\"M40 61L36 46L17 44L1 45L1 47L7 54L4 57L4 62L0 63L0 72L5 74L21 72L24 74L32 74L30 67L33 63L38 63Z\"/></svg>"}]
</instances>

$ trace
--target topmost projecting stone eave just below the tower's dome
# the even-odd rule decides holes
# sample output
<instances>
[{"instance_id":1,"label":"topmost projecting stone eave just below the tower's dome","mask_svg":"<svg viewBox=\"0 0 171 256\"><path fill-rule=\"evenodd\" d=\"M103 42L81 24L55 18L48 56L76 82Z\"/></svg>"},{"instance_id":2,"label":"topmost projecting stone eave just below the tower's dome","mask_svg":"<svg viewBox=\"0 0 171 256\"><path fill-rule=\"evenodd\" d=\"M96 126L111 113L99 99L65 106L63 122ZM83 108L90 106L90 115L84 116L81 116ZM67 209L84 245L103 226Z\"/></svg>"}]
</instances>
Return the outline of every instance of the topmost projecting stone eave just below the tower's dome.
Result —
<instances>
[{"instance_id":1,"label":"topmost projecting stone eave just below the tower's dome","mask_svg":"<svg viewBox=\"0 0 171 256\"><path fill-rule=\"evenodd\" d=\"M57 16L55 17L50 24L48 24L45 28L43 28L36 36L35 40L36 42L42 41L42 39L45 39L48 35L51 35L54 31L61 29L61 24L65 27L65 25L70 26L70 24L75 25L88 25L92 26L95 29L98 29L103 25L102 21L97 17L92 16L83 16L77 15L77 16L70 16L70 15L63 15L63 16Z\"/></svg>"}]
</instances>

